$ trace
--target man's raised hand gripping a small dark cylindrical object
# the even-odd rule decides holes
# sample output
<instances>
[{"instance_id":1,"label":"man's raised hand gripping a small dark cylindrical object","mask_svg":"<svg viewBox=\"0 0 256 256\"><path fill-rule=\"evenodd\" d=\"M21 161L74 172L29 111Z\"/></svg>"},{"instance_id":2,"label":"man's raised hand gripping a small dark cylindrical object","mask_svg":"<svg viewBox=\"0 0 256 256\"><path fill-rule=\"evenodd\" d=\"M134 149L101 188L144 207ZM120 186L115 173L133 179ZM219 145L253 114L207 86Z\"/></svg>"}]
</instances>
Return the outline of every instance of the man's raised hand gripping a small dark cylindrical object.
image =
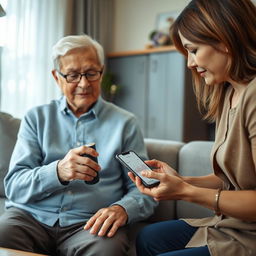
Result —
<instances>
[{"instance_id":1,"label":"man's raised hand gripping a small dark cylindrical object","mask_svg":"<svg viewBox=\"0 0 256 256\"><path fill-rule=\"evenodd\" d=\"M82 156L83 154L92 155L94 157L98 156L96 150L86 146L71 149L57 165L57 173L61 182L72 180L93 180L96 176L96 172L101 168L89 157Z\"/></svg>"}]
</instances>

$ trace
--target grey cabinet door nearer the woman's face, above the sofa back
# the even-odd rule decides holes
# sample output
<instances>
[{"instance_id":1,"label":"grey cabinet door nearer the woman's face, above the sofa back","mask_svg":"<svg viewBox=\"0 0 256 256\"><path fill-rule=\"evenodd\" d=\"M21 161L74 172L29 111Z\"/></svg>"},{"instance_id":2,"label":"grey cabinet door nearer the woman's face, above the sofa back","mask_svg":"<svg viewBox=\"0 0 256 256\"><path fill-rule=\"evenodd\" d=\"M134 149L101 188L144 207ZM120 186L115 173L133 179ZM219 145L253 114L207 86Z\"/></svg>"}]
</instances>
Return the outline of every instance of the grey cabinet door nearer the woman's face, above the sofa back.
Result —
<instances>
[{"instance_id":1,"label":"grey cabinet door nearer the woman's face, above the sofa back","mask_svg":"<svg viewBox=\"0 0 256 256\"><path fill-rule=\"evenodd\" d=\"M184 58L168 52L149 59L148 137L183 141Z\"/></svg>"}]
</instances>

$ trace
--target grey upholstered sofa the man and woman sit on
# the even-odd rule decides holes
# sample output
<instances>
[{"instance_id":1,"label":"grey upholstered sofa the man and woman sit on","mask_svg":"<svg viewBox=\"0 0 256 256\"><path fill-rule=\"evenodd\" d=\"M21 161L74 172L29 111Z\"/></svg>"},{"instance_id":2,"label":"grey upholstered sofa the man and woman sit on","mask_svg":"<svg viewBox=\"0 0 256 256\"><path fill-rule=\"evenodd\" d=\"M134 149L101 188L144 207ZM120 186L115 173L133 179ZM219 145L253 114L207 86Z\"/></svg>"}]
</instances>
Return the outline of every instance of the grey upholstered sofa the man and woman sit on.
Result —
<instances>
[{"instance_id":1,"label":"grey upholstered sofa the man and woman sit on","mask_svg":"<svg viewBox=\"0 0 256 256\"><path fill-rule=\"evenodd\" d=\"M0 215L4 211L5 193L3 178L8 169L9 160L19 129L20 120L7 113L0 113ZM207 175L212 172L210 164L211 141L193 141L183 143L171 140L145 138L150 159L158 159L171 165L183 176ZM155 213L146 221L132 224L130 227L131 250L136 255L134 240L137 232L149 223L176 218L198 218L213 215L213 212L201 206L183 201L162 201Z\"/></svg>"}]
</instances>

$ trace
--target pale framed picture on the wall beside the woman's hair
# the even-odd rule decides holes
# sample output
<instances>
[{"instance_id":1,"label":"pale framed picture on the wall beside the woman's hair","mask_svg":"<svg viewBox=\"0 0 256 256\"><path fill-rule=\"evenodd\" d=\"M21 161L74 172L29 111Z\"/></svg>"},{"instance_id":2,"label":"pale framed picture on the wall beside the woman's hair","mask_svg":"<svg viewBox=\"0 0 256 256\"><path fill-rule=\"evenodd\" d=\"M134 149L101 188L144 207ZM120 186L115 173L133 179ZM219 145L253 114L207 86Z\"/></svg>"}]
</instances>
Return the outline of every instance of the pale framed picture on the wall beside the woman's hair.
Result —
<instances>
[{"instance_id":1,"label":"pale framed picture on the wall beside the woman's hair","mask_svg":"<svg viewBox=\"0 0 256 256\"><path fill-rule=\"evenodd\" d=\"M173 21L179 16L180 11L159 13L156 17L156 30L169 33Z\"/></svg>"}]
</instances>

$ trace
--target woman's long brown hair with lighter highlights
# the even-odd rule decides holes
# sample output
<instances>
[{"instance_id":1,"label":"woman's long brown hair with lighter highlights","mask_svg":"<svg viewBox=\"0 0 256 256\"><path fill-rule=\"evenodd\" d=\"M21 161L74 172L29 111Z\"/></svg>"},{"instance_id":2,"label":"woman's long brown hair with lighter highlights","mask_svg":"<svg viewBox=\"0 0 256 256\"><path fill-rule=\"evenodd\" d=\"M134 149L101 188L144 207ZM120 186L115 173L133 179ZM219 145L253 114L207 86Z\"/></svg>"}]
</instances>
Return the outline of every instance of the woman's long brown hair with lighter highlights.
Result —
<instances>
[{"instance_id":1,"label":"woman's long brown hair with lighter highlights","mask_svg":"<svg viewBox=\"0 0 256 256\"><path fill-rule=\"evenodd\" d=\"M232 80L248 83L256 76L256 7L250 0L192 0L171 28L174 45L187 56L179 32L194 43L214 48L223 43L231 57ZM216 120L227 86L207 86L196 70L192 75L199 110Z\"/></svg>"}]
</instances>

